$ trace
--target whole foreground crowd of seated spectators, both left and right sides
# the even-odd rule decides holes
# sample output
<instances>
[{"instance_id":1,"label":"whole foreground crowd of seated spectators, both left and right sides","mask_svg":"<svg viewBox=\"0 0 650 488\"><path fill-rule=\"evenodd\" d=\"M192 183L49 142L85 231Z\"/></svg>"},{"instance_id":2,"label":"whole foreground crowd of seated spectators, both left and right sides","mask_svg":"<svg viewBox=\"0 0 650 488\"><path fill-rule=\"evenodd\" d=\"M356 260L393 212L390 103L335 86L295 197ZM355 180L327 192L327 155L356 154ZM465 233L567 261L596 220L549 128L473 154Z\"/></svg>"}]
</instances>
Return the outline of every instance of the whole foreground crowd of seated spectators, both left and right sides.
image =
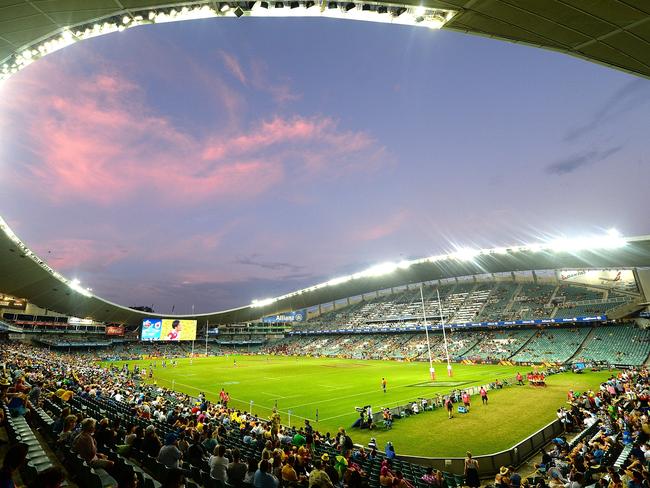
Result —
<instances>
[{"instance_id":1,"label":"whole foreground crowd of seated spectators, both left and right sides","mask_svg":"<svg viewBox=\"0 0 650 488\"><path fill-rule=\"evenodd\" d=\"M88 466L105 470L119 487L134 486L134 478L121 469L118 455L132 456L145 468L152 463L160 467L163 471L154 474L164 487L194 482L254 488L445 486L442 473L433 470L409 479L392 465L392 445L381 453L375 443L364 449L344 429L323 434L308 421L288 428L279 412L256 417L226 402L212 403L203 394L191 398L143 383L133 368L101 368L76 354L21 343L4 343L1 351L5 369L0 377L0 423L5 411L31 420L39 406L45 407L54 419L50 447L60 459L74 453ZM540 452L538 476L526 479L504 466L494 485L650 488L648 370L612 375L597 390L569 391L567 401L569 407L557 412L566 433L554 439L552 449ZM10 447L0 469L0 486L13 486L24 451L23 444ZM469 463L470 469L479 470L469 459L466 467ZM366 469L373 460L380 463L376 479ZM30 486L56 487L66 476L74 476L60 467L46 471L30 480Z\"/></svg>"}]
</instances>

